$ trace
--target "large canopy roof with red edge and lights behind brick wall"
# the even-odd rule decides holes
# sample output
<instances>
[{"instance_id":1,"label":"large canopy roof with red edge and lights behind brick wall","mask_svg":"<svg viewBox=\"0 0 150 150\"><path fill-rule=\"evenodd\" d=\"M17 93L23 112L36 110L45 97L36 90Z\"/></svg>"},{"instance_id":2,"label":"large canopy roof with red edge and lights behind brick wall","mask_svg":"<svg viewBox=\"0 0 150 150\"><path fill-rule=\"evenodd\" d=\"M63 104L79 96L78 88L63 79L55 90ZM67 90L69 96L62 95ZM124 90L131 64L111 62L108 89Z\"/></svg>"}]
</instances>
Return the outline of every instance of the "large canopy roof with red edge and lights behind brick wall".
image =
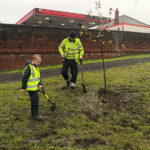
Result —
<instances>
[{"instance_id":1,"label":"large canopy roof with red edge and lights behind brick wall","mask_svg":"<svg viewBox=\"0 0 150 150\"><path fill-rule=\"evenodd\" d=\"M82 25L93 27L105 24L109 18L76 14L70 12L54 11L35 8L20 19L16 24L40 25L48 27L81 28Z\"/></svg>"}]
</instances>

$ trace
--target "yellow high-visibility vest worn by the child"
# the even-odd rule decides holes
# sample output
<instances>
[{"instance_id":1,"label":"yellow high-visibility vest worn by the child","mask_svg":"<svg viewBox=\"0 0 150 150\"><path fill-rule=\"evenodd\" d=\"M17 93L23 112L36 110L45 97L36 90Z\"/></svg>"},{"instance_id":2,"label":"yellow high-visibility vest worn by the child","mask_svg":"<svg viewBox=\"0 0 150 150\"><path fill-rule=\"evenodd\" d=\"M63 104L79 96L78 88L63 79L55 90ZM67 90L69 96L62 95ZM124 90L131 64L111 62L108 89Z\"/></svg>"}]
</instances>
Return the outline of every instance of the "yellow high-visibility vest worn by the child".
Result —
<instances>
[{"instance_id":1,"label":"yellow high-visibility vest worn by the child","mask_svg":"<svg viewBox=\"0 0 150 150\"><path fill-rule=\"evenodd\" d=\"M39 71L38 67L36 68L32 64L29 64L29 66L30 66L31 74L30 74L30 77L28 78L26 90L27 91L36 91L36 90L38 90L38 85L40 83L40 71Z\"/></svg>"}]
</instances>

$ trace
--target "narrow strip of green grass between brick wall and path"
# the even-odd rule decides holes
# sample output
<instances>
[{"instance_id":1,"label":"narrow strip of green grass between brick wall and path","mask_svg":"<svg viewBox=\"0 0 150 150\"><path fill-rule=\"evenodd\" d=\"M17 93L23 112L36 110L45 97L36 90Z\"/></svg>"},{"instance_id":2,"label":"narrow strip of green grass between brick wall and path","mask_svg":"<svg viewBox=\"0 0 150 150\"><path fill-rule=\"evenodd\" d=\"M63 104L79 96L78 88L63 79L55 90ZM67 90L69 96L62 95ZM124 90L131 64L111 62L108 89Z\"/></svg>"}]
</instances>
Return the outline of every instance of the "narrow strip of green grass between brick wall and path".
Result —
<instances>
[{"instance_id":1,"label":"narrow strip of green grass between brick wall and path","mask_svg":"<svg viewBox=\"0 0 150 150\"><path fill-rule=\"evenodd\" d=\"M110 62L110 61L115 61L115 60L124 60L124 59L130 59L130 58L145 58L145 57L150 57L150 54L124 55L124 56L119 56L119 57L115 57L115 58L107 58L107 59L105 59L105 62ZM102 62L101 58L84 60L83 64L100 63L100 62ZM39 68L40 68L40 70L47 70L47 69L55 69L55 68L61 68L61 67L62 67L62 64L57 64L57 65L41 66ZM0 74L23 72L23 69L24 68L0 71Z\"/></svg>"}]
</instances>

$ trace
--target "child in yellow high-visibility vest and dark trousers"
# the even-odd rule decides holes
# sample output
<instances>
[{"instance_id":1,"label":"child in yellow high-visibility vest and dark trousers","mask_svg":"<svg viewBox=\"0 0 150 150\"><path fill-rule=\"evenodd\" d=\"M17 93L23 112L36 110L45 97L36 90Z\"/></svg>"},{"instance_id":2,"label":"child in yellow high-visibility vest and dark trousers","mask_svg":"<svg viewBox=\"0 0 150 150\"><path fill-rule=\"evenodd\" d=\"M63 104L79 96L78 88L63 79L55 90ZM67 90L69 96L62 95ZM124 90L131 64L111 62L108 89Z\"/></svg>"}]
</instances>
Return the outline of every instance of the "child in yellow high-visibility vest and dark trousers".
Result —
<instances>
[{"instance_id":1,"label":"child in yellow high-visibility vest and dark trousers","mask_svg":"<svg viewBox=\"0 0 150 150\"><path fill-rule=\"evenodd\" d=\"M35 54L32 56L32 63L28 64L23 72L21 92L28 91L31 100L31 118L41 121L39 115L39 96L38 88L42 88L40 71L37 67L41 63L41 56Z\"/></svg>"}]
</instances>

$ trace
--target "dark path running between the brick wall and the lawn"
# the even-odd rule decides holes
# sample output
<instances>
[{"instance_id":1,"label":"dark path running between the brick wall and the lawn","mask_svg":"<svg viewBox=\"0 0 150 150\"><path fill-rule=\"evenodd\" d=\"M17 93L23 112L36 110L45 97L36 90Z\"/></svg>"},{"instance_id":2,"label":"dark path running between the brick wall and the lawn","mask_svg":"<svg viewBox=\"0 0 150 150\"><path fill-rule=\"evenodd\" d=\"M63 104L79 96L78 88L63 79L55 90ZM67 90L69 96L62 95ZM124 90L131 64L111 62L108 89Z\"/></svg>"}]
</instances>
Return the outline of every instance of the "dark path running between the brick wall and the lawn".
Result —
<instances>
[{"instance_id":1,"label":"dark path running between the brick wall and the lawn","mask_svg":"<svg viewBox=\"0 0 150 150\"><path fill-rule=\"evenodd\" d=\"M146 62L150 62L150 57L105 62L105 67L108 69L112 67L128 66L135 63L146 63ZM80 72L80 66L78 68ZM83 65L83 68L84 71L101 70L102 63L85 64ZM60 74L61 74L61 68L41 70L42 78L58 76ZM22 78L22 73L0 74L0 83L21 81L21 78Z\"/></svg>"}]
</instances>

